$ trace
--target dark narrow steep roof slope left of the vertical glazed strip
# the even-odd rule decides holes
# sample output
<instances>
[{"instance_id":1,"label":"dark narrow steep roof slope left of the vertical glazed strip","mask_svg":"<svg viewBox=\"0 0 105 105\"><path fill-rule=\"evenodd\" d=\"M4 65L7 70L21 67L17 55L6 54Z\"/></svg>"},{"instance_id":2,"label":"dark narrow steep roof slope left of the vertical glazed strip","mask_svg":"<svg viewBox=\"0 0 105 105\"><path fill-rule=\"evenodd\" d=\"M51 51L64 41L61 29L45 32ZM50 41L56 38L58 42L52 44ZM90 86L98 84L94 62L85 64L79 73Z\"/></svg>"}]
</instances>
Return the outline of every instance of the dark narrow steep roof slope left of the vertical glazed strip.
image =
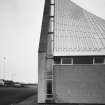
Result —
<instances>
[{"instance_id":1,"label":"dark narrow steep roof slope left of the vertical glazed strip","mask_svg":"<svg viewBox=\"0 0 105 105\"><path fill-rule=\"evenodd\" d=\"M47 37L48 37L48 27L49 27L49 15L50 15L50 0L45 0L44 13L43 13L43 21L39 42L39 53L47 52Z\"/></svg>"}]
</instances>

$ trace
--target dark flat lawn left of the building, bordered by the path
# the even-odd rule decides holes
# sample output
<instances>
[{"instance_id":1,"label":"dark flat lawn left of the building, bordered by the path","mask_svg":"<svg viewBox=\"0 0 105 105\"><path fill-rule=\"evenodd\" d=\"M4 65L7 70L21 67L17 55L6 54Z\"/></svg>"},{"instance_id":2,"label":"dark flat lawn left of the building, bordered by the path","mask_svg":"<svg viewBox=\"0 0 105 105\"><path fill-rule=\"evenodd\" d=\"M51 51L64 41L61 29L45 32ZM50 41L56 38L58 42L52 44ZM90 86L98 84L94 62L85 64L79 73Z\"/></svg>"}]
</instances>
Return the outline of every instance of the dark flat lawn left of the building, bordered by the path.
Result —
<instances>
[{"instance_id":1,"label":"dark flat lawn left of the building, bordered by the path","mask_svg":"<svg viewBox=\"0 0 105 105\"><path fill-rule=\"evenodd\" d=\"M11 105L37 94L35 88L0 87L0 105Z\"/></svg>"}]
</instances>

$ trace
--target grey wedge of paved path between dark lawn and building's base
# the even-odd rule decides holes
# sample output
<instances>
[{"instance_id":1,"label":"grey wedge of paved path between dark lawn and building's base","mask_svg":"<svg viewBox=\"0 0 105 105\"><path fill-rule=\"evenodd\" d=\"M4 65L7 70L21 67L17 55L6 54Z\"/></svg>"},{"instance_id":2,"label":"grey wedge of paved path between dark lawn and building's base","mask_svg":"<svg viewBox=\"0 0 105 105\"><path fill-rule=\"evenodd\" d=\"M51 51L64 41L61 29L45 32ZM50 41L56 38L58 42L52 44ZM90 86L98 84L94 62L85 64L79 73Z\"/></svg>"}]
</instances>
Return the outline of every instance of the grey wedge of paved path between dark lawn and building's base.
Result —
<instances>
[{"instance_id":1,"label":"grey wedge of paved path between dark lawn and building's base","mask_svg":"<svg viewBox=\"0 0 105 105\"><path fill-rule=\"evenodd\" d=\"M37 96L34 95L15 105L37 105L36 102L37 102Z\"/></svg>"}]
</instances>

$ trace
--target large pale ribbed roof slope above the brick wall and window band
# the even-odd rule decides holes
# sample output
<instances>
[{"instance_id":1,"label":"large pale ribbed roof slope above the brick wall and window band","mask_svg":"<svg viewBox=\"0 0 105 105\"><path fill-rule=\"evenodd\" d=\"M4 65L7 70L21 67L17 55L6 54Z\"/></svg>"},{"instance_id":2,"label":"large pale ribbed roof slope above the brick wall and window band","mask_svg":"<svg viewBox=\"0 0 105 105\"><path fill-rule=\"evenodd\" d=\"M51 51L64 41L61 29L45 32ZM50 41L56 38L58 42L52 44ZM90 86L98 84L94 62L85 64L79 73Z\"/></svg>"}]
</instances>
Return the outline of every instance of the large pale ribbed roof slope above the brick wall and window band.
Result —
<instances>
[{"instance_id":1,"label":"large pale ribbed roof slope above the brick wall and window band","mask_svg":"<svg viewBox=\"0 0 105 105\"><path fill-rule=\"evenodd\" d=\"M54 55L105 55L105 20L70 0L55 0Z\"/></svg>"}]
</instances>

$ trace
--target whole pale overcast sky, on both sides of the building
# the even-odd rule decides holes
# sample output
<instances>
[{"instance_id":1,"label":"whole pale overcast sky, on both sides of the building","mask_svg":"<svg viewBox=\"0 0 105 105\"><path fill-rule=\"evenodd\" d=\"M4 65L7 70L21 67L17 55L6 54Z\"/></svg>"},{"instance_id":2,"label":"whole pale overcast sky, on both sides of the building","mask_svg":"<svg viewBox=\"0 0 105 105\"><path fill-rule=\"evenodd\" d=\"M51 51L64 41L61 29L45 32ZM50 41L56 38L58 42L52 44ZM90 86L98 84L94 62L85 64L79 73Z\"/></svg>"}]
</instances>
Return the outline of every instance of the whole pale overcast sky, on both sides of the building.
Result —
<instances>
[{"instance_id":1,"label":"whole pale overcast sky, on both sides of the building","mask_svg":"<svg viewBox=\"0 0 105 105\"><path fill-rule=\"evenodd\" d=\"M72 1L105 19L105 0ZM44 0L0 0L0 78L38 82L43 8Z\"/></svg>"}]
</instances>

